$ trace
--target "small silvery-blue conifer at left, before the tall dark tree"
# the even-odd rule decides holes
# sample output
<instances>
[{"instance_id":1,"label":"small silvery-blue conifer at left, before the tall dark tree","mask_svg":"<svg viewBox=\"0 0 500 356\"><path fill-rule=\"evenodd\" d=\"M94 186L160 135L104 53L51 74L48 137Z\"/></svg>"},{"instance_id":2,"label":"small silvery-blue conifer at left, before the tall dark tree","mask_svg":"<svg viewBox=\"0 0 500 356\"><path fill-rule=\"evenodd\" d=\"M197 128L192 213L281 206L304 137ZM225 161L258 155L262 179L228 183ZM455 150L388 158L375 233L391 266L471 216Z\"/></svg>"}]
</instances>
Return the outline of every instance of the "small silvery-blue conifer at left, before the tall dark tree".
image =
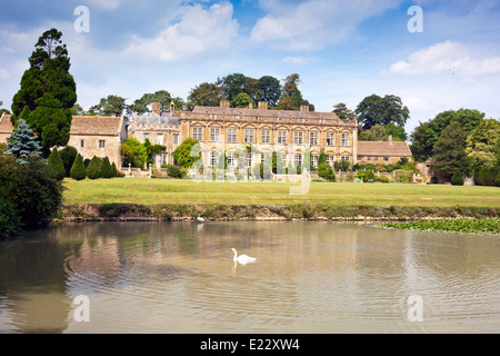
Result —
<instances>
[{"instance_id":1,"label":"small silvery-blue conifer at left, before the tall dark tree","mask_svg":"<svg viewBox=\"0 0 500 356\"><path fill-rule=\"evenodd\" d=\"M41 146L28 122L20 119L10 137L6 155L16 156L21 165L27 164L29 157L40 157Z\"/></svg>"}]
</instances>

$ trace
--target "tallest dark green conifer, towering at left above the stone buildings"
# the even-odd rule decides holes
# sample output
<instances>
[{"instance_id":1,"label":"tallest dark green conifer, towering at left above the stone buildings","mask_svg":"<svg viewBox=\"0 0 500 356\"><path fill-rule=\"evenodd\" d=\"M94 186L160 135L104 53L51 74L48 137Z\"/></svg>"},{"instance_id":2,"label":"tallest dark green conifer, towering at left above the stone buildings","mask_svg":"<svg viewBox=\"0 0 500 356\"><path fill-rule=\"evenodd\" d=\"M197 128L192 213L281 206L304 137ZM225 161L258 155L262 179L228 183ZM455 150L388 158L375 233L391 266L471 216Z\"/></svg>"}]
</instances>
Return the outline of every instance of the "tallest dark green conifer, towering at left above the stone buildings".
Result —
<instances>
[{"instance_id":1,"label":"tallest dark green conifer, towering at left above the stone buildings","mask_svg":"<svg viewBox=\"0 0 500 356\"><path fill-rule=\"evenodd\" d=\"M41 138L47 157L53 146L69 140L71 108L77 102L77 86L69 73L70 60L62 33L48 30L39 38L30 68L21 78L21 88L12 99L13 122L24 119Z\"/></svg>"}]
</instances>

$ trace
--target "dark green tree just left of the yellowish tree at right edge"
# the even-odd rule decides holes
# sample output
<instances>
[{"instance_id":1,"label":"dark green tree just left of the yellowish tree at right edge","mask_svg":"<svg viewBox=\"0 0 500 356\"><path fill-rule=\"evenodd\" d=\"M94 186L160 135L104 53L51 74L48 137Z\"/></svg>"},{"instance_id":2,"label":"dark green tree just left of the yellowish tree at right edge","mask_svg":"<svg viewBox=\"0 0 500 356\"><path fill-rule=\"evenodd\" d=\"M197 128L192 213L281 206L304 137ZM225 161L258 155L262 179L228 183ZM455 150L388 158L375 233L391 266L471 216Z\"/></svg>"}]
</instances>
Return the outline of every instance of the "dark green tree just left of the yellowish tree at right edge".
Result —
<instances>
[{"instance_id":1,"label":"dark green tree just left of the yellowish tree at right edge","mask_svg":"<svg viewBox=\"0 0 500 356\"><path fill-rule=\"evenodd\" d=\"M431 168L444 178L451 179L456 169L469 172L466 154L466 132L457 121L452 121L441 134L433 149Z\"/></svg>"}]
</instances>

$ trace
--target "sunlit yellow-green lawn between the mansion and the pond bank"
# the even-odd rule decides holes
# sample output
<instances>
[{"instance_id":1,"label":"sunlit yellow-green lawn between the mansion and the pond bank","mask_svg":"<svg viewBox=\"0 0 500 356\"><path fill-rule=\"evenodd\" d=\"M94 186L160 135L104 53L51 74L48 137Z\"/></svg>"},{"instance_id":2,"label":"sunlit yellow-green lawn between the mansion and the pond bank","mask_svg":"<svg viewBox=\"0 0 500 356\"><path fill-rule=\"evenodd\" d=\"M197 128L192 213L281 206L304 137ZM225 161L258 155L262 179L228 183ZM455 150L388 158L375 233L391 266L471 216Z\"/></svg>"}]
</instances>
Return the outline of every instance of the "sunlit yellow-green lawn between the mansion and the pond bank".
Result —
<instances>
[{"instance_id":1,"label":"sunlit yellow-green lawn between the mansion and the pond bank","mask_svg":"<svg viewBox=\"0 0 500 356\"><path fill-rule=\"evenodd\" d=\"M311 182L304 195L290 195L283 182L194 182L189 179L64 179L67 202L109 204L311 204L500 207L500 188L397 184Z\"/></svg>"}]
</instances>

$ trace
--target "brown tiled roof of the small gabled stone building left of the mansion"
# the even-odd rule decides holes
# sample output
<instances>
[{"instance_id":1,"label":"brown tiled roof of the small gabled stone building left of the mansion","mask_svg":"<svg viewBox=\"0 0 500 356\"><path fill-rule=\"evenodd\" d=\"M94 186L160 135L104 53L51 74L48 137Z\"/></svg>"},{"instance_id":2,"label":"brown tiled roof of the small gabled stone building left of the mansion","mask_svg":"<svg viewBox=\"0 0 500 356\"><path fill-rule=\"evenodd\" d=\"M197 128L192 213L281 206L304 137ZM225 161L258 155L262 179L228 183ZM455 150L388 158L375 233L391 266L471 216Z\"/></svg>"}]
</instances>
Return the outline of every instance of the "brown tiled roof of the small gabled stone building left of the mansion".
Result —
<instances>
[{"instance_id":1,"label":"brown tiled roof of the small gabled stone building left of the mansion","mask_svg":"<svg viewBox=\"0 0 500 356\"><path fill-rule=\"evenodd\" d=\"M116 136L121 131L123 117L73 116L70 135Z\"/></svg>"}]
</instances>

